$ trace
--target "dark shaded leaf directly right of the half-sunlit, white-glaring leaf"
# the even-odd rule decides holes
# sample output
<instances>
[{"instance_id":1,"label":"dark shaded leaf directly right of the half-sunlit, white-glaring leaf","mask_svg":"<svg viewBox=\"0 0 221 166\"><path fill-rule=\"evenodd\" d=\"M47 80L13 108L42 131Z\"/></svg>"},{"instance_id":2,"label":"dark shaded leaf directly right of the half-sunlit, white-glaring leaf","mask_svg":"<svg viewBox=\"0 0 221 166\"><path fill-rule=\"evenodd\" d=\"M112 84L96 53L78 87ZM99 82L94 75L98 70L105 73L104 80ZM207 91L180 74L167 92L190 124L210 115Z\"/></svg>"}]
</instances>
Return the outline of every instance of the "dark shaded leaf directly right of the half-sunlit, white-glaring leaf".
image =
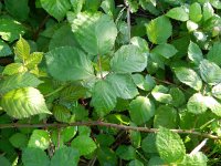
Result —
<instances>
[{"instance_id":1,"label":"dark shaded leaf directly right of the half-sunlit, white-glaring leaf","mask_svg":"<svg viewBox=\"0 0 221 166\"><path fill-rule=\"evenodd\" d=\"M179 107L180 105L186 103L185 94L178 87L171 87L169 91L172 96L172 105Z\"/></svg>"}]
</instances>

